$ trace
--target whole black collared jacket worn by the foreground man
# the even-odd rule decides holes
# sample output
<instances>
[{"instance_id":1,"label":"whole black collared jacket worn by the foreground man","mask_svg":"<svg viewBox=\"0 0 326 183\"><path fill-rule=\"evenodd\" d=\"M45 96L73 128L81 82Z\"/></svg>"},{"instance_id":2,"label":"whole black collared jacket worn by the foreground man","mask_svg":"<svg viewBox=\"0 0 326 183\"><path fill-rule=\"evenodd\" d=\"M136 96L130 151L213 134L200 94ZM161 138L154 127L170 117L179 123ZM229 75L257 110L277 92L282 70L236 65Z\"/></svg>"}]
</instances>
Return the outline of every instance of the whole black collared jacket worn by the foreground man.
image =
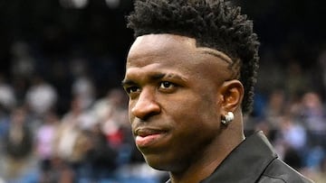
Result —
<instances>
[{"instance_id":1,"label":"whole black collared jacket worn by the foreground man","mask_svg":"<svg viewBox=\"0 0 326 183\"><path fill-rule=\"evenodd\" d=\"M170 182L170 181L168 181ZM200 183L312 183L289 167L264 133L254 133L232 151L211 176Z\"/></svg>"}]
</instances>

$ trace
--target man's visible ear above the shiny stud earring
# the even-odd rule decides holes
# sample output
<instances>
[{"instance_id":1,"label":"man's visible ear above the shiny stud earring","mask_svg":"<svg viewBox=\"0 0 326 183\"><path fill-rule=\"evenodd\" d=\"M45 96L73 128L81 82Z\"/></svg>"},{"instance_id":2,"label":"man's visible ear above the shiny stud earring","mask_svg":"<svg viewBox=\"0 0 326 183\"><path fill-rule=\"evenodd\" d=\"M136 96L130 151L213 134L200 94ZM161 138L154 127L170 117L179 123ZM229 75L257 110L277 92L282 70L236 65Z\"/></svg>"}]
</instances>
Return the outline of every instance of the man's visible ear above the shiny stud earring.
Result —
<instances>
[{"instance_id":1,"label":"man's visible ear above the shiny stud earring","mask_svg":"<svg viewBox=\"0 0 326 183\"><path fill-rule=\"evenodd\" d=\"M222 96L221 113L227 114L234 112L235 109L241 108L241 103L244 98L245 89L239 80L233 79L225 81L220 87Z\"/></svg>"}]
</instances>

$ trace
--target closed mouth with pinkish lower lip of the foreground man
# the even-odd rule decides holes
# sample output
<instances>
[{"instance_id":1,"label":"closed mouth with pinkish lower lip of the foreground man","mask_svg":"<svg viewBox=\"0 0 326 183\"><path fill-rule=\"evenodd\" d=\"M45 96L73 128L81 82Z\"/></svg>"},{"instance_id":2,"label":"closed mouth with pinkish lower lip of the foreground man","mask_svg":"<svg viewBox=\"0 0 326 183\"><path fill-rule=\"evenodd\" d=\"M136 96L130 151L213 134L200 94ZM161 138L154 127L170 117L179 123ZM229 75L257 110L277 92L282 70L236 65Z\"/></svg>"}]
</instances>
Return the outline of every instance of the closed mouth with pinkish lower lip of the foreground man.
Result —
<instances>
[{"instance_id":1,"label":"closed mouth with pinkish lower lip of the foreground man","mask_svg":"<svg viewBox=\"0 0 326 183\"><path fill-rule=\"evenodd\" d=\"M149 147L161 141L166 131L149 128L139 128L135 131L135 142L139 148Z\"/></svg>"}]
</instances>

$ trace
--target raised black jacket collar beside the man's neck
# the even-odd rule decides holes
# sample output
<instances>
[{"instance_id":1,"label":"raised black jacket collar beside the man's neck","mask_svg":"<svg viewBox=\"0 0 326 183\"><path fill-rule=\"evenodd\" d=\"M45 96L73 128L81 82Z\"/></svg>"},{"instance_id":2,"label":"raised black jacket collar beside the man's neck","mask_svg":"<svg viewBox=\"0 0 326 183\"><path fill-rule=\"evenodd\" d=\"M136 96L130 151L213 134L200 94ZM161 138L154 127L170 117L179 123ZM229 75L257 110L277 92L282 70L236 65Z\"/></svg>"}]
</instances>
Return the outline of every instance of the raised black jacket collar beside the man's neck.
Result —
<instances>
[{"instance_id":1,"label":"raised black jacket collar beside the man's neck","mask_svg":"<svg viewBox=\"0 0 326 183\"><path fill-rule=\"evenodd\" d=\"M254 133L241 142L214 173L201 183L255 182L268 164L276 158L277 154L264 133Z\"/></svg>"}]
</instances>

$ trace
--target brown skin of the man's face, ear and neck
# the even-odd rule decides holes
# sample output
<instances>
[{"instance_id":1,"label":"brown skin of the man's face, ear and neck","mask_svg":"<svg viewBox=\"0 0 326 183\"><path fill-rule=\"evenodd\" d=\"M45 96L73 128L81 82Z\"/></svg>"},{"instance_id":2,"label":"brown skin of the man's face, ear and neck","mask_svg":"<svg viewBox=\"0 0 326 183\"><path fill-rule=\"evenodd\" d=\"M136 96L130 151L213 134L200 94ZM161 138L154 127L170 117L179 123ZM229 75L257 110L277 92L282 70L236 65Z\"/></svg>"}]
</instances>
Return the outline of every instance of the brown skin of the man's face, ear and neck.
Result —
<instances>
[{"instance_id":1,"label":"brown skin of the man's face, ear and neck","mask_svg":"<svg viewBox=\"0 0 326 183\"><path fill-rule=\"evenodd\" d=\"M173 34L140 36L132 44L123 87L129 121L149 166L174 183L208 177L244 141L244 87L223 52ZM221 118L233 112L225 126Z\"/></svg>"}]
</instances>

